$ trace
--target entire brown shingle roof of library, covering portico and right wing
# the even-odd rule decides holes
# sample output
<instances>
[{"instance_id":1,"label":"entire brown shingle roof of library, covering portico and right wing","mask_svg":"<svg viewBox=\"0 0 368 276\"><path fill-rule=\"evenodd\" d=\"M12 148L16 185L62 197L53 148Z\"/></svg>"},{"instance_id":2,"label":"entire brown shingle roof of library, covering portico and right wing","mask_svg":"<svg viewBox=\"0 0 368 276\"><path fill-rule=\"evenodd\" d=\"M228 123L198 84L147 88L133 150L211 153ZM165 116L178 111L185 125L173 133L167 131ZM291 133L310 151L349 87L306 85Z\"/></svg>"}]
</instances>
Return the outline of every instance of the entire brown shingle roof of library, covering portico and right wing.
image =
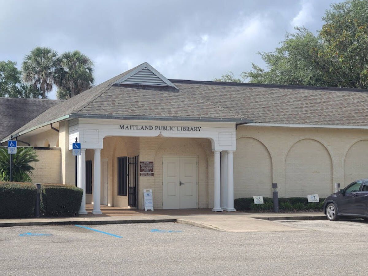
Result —
<instances>
[{"instance_id":1,"label":"entire brown shingle roof of library, covering portico and right wing","mask_svg":"<svg viewBox=\"0 0 368 276\"><path fill-rule=\"evenodd\" d=\"M219 121L226 118L233 122L368 125L367 89L177 79L170 79L179 88L175 91L149 85L113 85L135 68L51 107L14 134L66 115Z\"/></svg>"}]
</instances>

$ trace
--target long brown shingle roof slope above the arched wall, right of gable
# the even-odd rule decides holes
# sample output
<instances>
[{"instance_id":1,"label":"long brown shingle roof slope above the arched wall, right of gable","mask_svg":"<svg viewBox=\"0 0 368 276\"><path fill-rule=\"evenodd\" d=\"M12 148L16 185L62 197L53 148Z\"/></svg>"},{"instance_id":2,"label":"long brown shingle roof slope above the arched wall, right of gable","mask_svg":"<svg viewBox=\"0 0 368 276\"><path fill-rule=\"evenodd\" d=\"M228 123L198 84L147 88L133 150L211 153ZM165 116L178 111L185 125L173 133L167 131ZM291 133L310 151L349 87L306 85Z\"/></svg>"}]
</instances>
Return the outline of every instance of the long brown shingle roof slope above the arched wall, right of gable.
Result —
<instances>
[{"instance_id":1,"label":"long brown shingle roof slope above the arched wall, right of gable","mask_svg":"<svg viewBox=\"0 0 368 276\"><path fill-rule=\"evenodd\" d=\"M170 81L255 123L368 125L367 89Z\"/></svg>"}]
</instances>

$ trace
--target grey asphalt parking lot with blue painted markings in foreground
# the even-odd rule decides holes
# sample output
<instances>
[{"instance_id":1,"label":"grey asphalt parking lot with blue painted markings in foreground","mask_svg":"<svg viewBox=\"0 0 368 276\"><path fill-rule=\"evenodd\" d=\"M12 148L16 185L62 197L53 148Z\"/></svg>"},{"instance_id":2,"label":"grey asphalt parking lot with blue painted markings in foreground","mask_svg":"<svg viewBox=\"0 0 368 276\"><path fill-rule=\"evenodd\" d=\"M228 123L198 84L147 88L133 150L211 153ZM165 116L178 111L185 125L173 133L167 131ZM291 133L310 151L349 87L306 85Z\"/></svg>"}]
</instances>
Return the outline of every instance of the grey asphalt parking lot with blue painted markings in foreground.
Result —
<instances>
[{"instance_id":1,"label":"grey asphalt parking lot with blue painted markings in foreground","mask_svg":"<svg viewBox=\"0 0 368 276\"><path fill-rule=\"evenodd\" d=\"M180 223L0 228L0 275L366 275L362 220L228 233ZM85 228L86 227L86 228Z\"/></svg>"}]
</instances>

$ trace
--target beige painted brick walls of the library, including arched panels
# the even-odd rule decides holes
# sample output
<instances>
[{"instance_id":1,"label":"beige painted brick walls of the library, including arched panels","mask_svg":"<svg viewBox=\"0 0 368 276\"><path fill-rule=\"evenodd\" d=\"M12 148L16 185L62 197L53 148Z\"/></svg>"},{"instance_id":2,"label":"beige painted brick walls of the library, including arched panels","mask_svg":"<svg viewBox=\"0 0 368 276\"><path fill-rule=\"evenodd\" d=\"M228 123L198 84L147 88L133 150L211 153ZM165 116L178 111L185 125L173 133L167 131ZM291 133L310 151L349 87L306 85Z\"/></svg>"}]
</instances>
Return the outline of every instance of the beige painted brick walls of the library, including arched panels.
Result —
<instances>
[{"instance_id":1,"label":"beige painted brick walls of the library, including arched panels","mask_svg":"<svg viewBox=\"0 0 368 276\"><path fill-rule=\"evenodd\" d=\"M368 130L244 125L236 134L235 198L270 197L272 183L278 184L280 197L314 193L325 197L333 191L333 183L345 187L353 180L368 178ZM40 151L44 161L35 164L33 181L74 183L67 123L60 124L59 144L60 151ZM214 167L209 139L163 137L104 139L101 158L108 160L110 205L128 205L127 197L117 196L117 157L136 155L139 161L154 162L154 176L139 177L139 208L143 189L148 188L153 190L154 207L162 208L162 156L198 156L198 206L213 207ZM92 149L86 151L86 160L93 161ZM89 195L86 199L92 201Z\"/></svg>"}]
</instances>

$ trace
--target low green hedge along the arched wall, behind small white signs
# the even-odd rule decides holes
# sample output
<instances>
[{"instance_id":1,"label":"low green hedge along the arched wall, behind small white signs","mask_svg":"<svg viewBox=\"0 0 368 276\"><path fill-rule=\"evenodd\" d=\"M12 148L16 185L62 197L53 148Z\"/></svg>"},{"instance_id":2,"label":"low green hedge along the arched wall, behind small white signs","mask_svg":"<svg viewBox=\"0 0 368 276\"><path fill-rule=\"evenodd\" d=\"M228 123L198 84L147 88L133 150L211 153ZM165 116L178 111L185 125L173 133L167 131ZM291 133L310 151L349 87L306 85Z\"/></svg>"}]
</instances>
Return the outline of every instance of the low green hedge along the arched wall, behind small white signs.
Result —
<instances>
[{"instance_id":1,"label":"low green hedge along the arched wall, behind small white signs","mask_svg":"<svg viewBox=\"0 0 368 276\"><path fill-rule=\"evenodd\" d=\"M324 198L319 202L308 203L305 197L279 198L279 210L284 212L315 210L322 211ZM234 199L234 208L238 211L273 212L273 199L264 197L263 204L254 204L253 198Z\"/></svg>"}]
</instances>

